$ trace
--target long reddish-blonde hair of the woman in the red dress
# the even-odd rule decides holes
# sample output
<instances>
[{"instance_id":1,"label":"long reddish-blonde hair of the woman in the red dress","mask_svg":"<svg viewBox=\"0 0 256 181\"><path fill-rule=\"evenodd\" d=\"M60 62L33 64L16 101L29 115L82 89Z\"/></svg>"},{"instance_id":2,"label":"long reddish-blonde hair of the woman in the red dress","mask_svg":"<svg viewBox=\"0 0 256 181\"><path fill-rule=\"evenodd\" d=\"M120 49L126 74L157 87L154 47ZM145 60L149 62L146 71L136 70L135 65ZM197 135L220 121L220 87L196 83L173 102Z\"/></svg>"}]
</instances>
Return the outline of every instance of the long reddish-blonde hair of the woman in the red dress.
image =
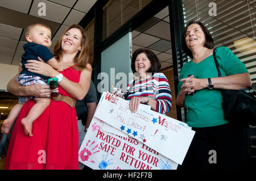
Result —
<instances>
[{"instance_id":1,"label":"long reddish-blonde hair of the woman in the red dress","mask_svg":"<svg viewBox=\"0 0 256 181\"><path fill-rule=\"evenodd\" d=\"M69 26L64 31L63 35L61 35L60 39L57 41L57 43L54 47L53 55L55 56L56 60L59 62L60 58L62 58L61 39L63 38L65 33L67 33L68 30L71 30L72 28L79 29L81 34L82 34L81 50L79 52L77 52L77 54L74 58L75 66L73 66L72 68L75 69L75 70L82 70L84 68L88 69L88 68L86 68L86 65L89 61L88 39L87 39L87 35L86 35L86 32L85 32L84 28L82 28L79 24L73 24L73 25ZM90 70L90 69L88 69L88 70Z\"/></svg>"}]
</instances>

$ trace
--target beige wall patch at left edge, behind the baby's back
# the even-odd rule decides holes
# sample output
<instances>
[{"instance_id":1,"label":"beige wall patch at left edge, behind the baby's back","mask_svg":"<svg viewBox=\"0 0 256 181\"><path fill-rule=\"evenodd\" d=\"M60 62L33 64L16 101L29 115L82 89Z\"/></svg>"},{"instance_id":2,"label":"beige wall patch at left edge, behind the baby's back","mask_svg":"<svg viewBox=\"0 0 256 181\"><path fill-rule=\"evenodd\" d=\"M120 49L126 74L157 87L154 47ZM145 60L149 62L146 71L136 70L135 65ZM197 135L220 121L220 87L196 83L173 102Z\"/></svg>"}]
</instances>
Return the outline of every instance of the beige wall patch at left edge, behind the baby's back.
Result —
<instances>
[{"instance_id":1,"label":"beige wall patch at left edge, behind the baby's back","mask_svg":"<svg viewBox=\"0 0 256 181\"><path fill-rule=\"evenodd\" d=\"M18 73L17 65L0 64L0 90L6 90L7 83Z\"/></svg>"}]
</instances>

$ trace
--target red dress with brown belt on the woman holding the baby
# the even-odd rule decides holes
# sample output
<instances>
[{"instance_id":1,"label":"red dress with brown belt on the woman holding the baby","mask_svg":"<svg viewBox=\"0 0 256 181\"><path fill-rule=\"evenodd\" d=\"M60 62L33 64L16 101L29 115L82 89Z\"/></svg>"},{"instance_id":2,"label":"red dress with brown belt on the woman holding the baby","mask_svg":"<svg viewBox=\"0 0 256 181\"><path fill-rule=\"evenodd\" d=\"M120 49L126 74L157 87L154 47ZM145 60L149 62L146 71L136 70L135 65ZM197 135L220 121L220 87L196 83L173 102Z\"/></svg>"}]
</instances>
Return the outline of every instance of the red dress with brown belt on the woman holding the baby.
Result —
<instances>
[{"instance_id":1,"label":"red dress with brown belt on the woman holding the baby","mask_svg":"<svg viewBox=\"0 0 256 181\"><path fill-rule=\"evenodd\" d=\"M61 72L73 82L79 82L80 71L72 68ZM59 93L71 96L59 86ZM26 117L34 100L28 100L16 120L5 169L79 169L79 132L76 110L67 103L51 99L51 104L34 121L32 137L24 134L20 120Z\"/></svg>"}]
</instances>

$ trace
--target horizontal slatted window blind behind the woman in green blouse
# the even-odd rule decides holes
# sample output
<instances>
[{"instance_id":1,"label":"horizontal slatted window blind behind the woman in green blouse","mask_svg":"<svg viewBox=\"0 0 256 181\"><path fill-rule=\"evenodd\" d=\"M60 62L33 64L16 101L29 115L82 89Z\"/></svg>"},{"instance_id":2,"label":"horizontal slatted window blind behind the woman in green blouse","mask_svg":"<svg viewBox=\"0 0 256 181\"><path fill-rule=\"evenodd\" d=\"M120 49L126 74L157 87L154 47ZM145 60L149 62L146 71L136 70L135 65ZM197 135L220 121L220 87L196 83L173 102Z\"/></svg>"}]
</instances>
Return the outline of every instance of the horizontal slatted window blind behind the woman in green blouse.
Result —
<instances>
[{"instance_id":1,"label":"horizontal slatted window blind behind the woman in green blouse","mask_svg":"<svg viewBox=\"0 0 256 181\"><path fill-rule=\"evenodd\" d=\"M256 0L183 0L184 24L190 20L204 23L215 47L230 48L245 64L253 87L256 86L255 6ZM212 13L214 7L216 14Z\"/></svg>"}]
</instances>

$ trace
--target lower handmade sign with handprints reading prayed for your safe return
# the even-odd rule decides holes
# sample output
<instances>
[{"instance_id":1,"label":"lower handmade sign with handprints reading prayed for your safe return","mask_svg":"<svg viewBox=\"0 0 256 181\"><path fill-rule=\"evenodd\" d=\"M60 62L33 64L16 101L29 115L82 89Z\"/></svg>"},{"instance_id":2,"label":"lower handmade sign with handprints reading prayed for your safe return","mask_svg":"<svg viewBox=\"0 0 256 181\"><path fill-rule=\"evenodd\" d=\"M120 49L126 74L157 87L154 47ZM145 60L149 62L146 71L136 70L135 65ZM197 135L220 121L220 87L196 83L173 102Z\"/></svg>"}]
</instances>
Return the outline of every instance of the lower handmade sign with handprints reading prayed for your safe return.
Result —
<instances>
[{"instance_id":1,"label":"lower handmade sign with handprints reading prayed for your safe return","mask_svg":"<svg viewBox=\"0 0 256 181\"><path fill-rule=\"evenodd\" d=\"M102 131L106 125L93 117L79 150L79 161L92 169L110 170L153 170L177 169L177 163L160 155L141 142L120 135Z\"/></svg>"}]
</instances>

